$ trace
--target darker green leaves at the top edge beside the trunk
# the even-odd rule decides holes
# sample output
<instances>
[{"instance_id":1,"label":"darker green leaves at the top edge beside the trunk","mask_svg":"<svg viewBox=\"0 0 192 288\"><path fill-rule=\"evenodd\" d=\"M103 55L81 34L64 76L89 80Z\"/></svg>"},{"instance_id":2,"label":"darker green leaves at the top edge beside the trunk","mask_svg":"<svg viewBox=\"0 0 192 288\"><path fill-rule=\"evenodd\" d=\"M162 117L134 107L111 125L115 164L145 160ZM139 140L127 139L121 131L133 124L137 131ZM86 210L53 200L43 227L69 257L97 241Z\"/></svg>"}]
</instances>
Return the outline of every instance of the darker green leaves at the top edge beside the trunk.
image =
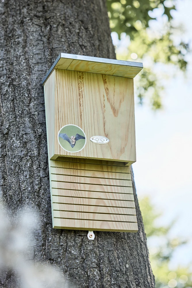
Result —
<instances>
[{"instance_id":1,"label":"darker green leaves at the top edge beside the trunk","mask_svg":"<svg viewBox=\"0 0 192 288\"><path fill-rule=\"evenodd\" d=\"M111 31L117 32L119 39L122 32L134 39L134 33L138 30L136 22L139 20L142 28L147 28L149 20L153 19L148 12L159 5L164 7L168 20L172 19L170 10L175 7L166 7L165 3L165 0L107 0Z\"/></svg>"}]
</instances>

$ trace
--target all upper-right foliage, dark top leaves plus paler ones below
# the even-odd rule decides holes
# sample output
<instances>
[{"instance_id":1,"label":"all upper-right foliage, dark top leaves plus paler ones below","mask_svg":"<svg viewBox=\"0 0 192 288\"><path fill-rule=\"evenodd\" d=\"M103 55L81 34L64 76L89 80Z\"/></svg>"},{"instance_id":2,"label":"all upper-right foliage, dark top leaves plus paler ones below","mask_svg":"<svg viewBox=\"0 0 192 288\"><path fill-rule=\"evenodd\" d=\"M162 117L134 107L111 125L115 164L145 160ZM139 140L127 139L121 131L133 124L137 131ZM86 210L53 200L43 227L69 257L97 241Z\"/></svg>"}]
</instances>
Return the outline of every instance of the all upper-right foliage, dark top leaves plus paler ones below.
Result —
<instances>
[{"instance_id":1,"label":"all upper-right foliage, dark top leaves plus paler ones below","mask_svg":"<svg viewBox=\"0 0 192 288\"><path fill-rule=\"evenodd\" d=\"M167 75L157 75L154 72L155 64L163 63L172 65L182 71L186 70L187 62L185 55L189 52L189 46L186 43L175 45L173 34L175 31L180 35L183 33L181 27L172 27L170 10L175 10L173 1L171 7L166 7L166 0L107 0L108 14L111 31L115 31L119 39L121 33L126 33L130 37L130 45L122 53L116 49L116 56L119 60L130 60L131 58L144 62L144 69L139 73L139 82L136 86L136 94L139 103L147 96L150 99L150 105L153 109L162 107L162 90L164 85L162 78ZM167 23L162 31L152 32L149 27L149 12L163 7L163 15L167 15ZM132 57L132 55L136 57ZM148 61L145 61L145 60ZM146 65L152 63L151 65ZM176 69L175 69L176 70Z\"/></svg>"}]
</instances>

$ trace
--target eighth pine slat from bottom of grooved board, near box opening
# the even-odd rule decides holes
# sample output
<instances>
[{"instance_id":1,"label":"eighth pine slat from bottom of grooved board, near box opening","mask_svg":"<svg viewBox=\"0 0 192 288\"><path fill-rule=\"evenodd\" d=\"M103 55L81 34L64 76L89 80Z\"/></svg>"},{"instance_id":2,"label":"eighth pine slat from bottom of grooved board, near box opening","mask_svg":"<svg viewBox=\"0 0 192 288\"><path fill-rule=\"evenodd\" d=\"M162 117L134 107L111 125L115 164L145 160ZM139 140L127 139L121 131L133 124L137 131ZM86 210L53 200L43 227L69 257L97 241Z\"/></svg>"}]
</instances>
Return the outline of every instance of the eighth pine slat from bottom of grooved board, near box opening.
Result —
<instances>
[{"instance_id":1,"label":"eighth pine slat from bottom of grooved board, near box opening","mask_svg":"<svg viewBox=\"0 0 192 288\"><path fill-rule=\"evenodd\" d=\"M80 177L93 177L93 178L108 178L119 180L131 180L131 174L126 173L112 173L93 170L76 170L76 169L64 169L51 167L51 174L56 175L71 175Z\"/></svg>"}]
</instances>

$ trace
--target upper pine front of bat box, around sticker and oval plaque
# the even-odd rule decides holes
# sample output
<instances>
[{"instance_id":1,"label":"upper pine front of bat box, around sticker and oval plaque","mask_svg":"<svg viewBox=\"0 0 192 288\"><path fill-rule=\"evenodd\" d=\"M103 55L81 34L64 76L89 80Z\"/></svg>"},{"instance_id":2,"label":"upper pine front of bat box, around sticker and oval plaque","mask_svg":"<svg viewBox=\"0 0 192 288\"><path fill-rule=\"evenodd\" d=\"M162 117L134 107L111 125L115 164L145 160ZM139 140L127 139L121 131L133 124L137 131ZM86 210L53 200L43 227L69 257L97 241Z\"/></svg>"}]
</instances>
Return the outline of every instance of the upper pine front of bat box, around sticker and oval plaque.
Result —
<instances>
[{"instance_id":1,"label":"upper pine front of bat box, around sticker and oval plaque","mask_svg":"<svg viewBox=\"0 0 192 288\"><path fill-rule=\"evenodd\" d=\"M52 77L54 82L50 81ZM48 95L51 86L54 95ZM52 136L50 159L75 156L118 160L129 165L136 161L132 79L55 69L44 87L46 118L50 119L47 130ZM47 107L52 107L54 113ZM87 137L85 147L75 155L58 143L58 131L66 124L81 127ZM110 141L106 145L92 143L89 139L95 135Z\"/></svg>"}]
</instances>

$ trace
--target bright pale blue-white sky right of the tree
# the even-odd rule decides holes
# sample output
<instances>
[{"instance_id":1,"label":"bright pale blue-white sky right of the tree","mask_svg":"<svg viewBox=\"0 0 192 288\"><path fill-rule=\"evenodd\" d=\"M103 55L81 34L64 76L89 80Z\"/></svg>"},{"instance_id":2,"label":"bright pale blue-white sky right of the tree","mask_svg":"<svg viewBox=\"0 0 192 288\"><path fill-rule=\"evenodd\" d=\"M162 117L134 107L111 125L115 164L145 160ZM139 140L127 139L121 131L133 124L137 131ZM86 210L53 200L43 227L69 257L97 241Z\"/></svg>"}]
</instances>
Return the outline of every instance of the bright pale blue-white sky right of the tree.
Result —
<instances>
[{"instance_id":1,"label":"bright pale blue-white sky right of the tree","mask_svg":"<svg viewBox=\"0 0 192 288\"><path fill-rule=\"evenodd\" d=\"M190 42L192 1L178 0L176 7L177 11L172 13L173 24L182 25L185 33L176 35L175 41ZM152 25L158 27L163 21L159 16L157 23ZM113 32L112 39L118 54L128 46L129 39L125 35L119 41ZM163 79L165 90L161 111L152 111L148 103L140 106L135 99L137 161L133 171L138 198L149 195L152 203L163 212L159 224L167 225L177 219L171 236L189 241L174 253L173 266L192 262L192 54L187 60L186 75L177 71L174 76L174 68L166 67L170 69L167 71L170 77ZM156 69L163 73L165 67L157 65Z\"/></svg>"}]
</instances>

